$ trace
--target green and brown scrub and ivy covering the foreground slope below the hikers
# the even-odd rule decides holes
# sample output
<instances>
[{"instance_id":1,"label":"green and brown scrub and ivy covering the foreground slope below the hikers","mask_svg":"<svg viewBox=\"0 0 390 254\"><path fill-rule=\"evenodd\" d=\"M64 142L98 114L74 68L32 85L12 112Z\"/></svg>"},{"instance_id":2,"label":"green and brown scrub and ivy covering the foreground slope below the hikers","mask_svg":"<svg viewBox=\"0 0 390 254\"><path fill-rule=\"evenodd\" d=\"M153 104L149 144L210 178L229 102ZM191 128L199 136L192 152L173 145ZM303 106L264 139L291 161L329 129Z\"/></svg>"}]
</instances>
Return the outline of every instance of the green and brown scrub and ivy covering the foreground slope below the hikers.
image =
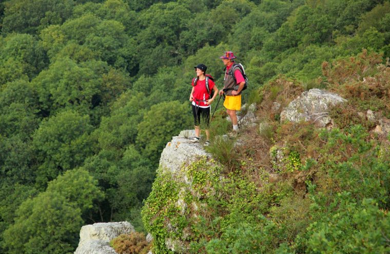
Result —
<instances>
[{"instance_id":1,"label":"green and brown scrub and ivy covering the foreground slope below the hikers","mask_svg":"<svg viewBox=\"0 0 390 254\"><path fill-rule=\"evenodd\" d=\"M322 86L348 100L330 108L333 128L280 122L303 88L278 77L256 91L260 129L241 129L239 145L216 139L217 166L178 169L191 187L160 170L143 209L155 253L172 253L166 239L180 240L177 253L388 253L390 134L376 126L388 118L390 66L380 62L364 51L323 64Z\"/></svg>"}]
</instances>

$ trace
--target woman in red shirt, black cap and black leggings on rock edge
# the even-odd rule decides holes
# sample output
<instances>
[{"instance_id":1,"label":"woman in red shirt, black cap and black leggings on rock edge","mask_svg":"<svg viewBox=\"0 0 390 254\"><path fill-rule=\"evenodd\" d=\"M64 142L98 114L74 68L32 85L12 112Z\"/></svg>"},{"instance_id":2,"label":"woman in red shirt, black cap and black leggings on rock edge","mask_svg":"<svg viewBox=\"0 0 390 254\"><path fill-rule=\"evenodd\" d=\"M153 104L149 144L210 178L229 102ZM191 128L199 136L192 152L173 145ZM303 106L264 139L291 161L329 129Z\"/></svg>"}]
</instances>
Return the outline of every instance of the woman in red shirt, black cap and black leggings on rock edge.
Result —
<instances>
[{"instance_id":1,"label":"woman in red shirt, black cap and black leggings on rock edge","mask_svg":"<svg viewBox=\"0 0 390 254\"><path fill-rule=\"evenodd\" d=\"M191 142L199 142L200 139L200 123L201 116L206 125L206 142L205 145L209 145L210 141L210 132L208 131L208 126L210 123L210 104L218 94L218 88L214 84L211 75L206 75L207 66L204 64L199 64L194 67L197 72L197 77L192 79L192 90L189 95L189 101L192 102L192 114L195 125L195 135L191 139ZM207 84L207 87L206 87ZM213 96L210 98L211 90L214 91Z\"/></svg>"}]
</instances>

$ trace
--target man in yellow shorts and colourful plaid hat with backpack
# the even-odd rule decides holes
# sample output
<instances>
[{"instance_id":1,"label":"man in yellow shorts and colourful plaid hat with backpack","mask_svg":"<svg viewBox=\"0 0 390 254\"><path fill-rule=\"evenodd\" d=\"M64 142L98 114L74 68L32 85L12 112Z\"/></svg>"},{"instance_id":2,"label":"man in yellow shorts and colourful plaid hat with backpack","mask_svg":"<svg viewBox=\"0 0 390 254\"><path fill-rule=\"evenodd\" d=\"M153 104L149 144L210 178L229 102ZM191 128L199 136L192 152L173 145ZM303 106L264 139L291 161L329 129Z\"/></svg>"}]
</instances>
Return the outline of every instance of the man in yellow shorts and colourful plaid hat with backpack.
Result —
<instances>
[{"instance_id":1,"label":"man in yellow shorts and colourful plaid hat with backpack","mask_svg":"<svg viewBox=\"0 0 390 254\"><path fill-rule=\"evenodd\" d=\"M219 94L226 95L223 106L226 108L226 113L229 115L233 124L233 131L238 132L238 121L236 111L241 109L241 91L245 85L245 79L240 71L240 67L233 67L236 56L231 51L225 51L220 57L226 67L224 87ZM233 77L234 76L234 77Z\"/></svg>"}]
</instances>

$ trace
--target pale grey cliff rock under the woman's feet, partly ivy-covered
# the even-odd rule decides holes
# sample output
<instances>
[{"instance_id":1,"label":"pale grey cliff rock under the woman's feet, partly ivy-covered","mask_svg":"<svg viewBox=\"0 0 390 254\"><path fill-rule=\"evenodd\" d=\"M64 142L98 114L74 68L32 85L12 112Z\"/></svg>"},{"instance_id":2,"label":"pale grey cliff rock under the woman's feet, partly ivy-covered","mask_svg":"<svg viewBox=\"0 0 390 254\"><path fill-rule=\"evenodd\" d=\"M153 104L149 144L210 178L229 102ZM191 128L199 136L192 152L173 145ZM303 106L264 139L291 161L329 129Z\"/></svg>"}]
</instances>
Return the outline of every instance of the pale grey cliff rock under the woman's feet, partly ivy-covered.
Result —
<instances>
[{"instance_id":1,"label":"pale grey cliff rock under the woman's feet, partly ivy-covered","mask_svg":"<svg viewBox=\"0 0 390 254\"><path fill-rule=\"evenodd\" d=\"M178 190L174 206L182 216L188 216L190 213L190 216L196 217L198 209L206 205L202 203L202 200L205 197L216 195L216 190L211 184L206 184L202 189L194 188L194 178L193 175L188 174L188 166L192 162L199 161L200 158L203 157L206 158L207 163L209 164L209 169L211 170L209 173L213 175L216 174L217 171L213 171L216 170L216 167L211 160L211 154L204 150L203 145L201 143L192 143L189 139L184 138L184 136L191 136L190 133L191 130L182 131L179 136L174 136L171 142L168 142L161 154L157 177L164 174L169 175L172 182L174 182L174 186L177 186ZM223 139L222 137L219 138ZM188 194L194 197L196 201L188 203L188 201L186 201ZM188 253L189 243L184 239L189 238L191 225L179 229L177 225L167 221L164 227L169 233L174 233L173 235L178 233L181 235L180 238L166 238L166 247L175 253Z\"/></svg>"}]
</instances>

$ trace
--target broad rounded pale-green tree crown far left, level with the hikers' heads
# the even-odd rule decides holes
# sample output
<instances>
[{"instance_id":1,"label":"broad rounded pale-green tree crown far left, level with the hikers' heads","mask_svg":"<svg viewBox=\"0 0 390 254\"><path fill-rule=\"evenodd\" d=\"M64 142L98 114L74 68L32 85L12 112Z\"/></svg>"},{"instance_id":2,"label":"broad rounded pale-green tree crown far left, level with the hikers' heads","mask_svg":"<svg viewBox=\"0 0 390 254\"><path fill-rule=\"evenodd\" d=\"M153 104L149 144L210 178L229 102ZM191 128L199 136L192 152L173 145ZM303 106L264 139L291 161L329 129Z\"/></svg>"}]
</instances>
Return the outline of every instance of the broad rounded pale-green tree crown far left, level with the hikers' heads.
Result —
<instances>
[{"instance_id":1,"label":"broad rounded pale-green tree crown far left, level with the hikers' heads","mask_svg":"<svg viewBox=\"0 0 390 254\"><path fill-rule=\"evenodd\" d=\"M63 108L92 116L93 124L108 113L107 105L129 85L128 77L101 61L76 64L69 58L57 60L42 71L33 84L42 109L55 113Z\"/></svg>"}]
</instances>

